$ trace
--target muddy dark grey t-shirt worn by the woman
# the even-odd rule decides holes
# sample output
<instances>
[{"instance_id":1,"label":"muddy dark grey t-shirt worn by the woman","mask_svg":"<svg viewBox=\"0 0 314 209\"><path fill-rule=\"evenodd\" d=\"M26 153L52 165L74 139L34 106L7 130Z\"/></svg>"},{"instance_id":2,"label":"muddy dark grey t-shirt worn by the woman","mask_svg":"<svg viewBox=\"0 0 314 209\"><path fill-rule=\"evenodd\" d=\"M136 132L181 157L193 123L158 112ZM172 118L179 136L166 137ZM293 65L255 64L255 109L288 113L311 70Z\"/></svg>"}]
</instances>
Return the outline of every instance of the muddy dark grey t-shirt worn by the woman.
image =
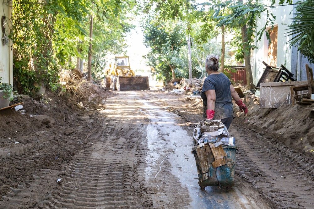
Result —
<instances>
[{"instance_id":1,"label":"muddy dark grey t-shirt worn by the woman","mask_svg":"<svg viewBox=\"0 0 314 209\"><path fill-rule=\"evenodd\" d=\"M233 104L231 102L231 82L229 78L223 74L211 74L208 75L204 81L201 97L203 99L203 117L206 118L207 110L207 97L204 91L215 90L216 102L215 102L215 116L214 119L224 119L233 117Z\"/></svg>"}]
</instances>

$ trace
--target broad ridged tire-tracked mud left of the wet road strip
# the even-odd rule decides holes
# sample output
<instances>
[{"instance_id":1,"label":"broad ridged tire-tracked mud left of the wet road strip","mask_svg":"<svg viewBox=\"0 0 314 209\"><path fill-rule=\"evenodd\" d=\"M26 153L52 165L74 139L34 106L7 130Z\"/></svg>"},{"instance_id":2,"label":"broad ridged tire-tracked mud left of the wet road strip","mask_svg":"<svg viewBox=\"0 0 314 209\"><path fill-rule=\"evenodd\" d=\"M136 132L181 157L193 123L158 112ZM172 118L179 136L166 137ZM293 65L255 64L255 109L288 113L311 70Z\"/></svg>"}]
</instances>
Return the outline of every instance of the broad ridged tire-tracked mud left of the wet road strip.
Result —
<instances>
[{"instance_id":1,"label":"broad ridged tire-tracked mud left of the wet road strip","mask_svg":"<svg viewBox=\"0 0 314 209\"><path fill-rule=\"evenodd\" d=\"M106 120L88 138L90 148L63 167L58 191L49 195L41 208L152 207L142 175L147 121L140 114L137 117L136 107L117 107L117 103L117 99L108 103Z\"/></svg>"}]
</instances>

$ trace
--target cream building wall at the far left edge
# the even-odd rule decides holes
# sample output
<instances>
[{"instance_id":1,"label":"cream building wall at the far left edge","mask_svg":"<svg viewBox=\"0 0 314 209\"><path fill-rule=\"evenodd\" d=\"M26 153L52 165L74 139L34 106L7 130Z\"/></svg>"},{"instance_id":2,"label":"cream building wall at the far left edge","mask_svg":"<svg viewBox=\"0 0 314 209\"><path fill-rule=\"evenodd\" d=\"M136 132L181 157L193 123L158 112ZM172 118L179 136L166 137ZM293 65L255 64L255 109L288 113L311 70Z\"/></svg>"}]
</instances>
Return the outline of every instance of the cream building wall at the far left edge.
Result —
<instances>
[{"instance_id":1,"label":"cream building wall at the far left edge","mask_svg":"<svg viewBox=\"0 0 314 209\"><path fill-rule=\"evenodd\" d=\"M4 15L7 18L6 21L6 34L9 34L9 28L11 28L11 5L6 3L0 5L0 20ZM0 24L1 25L1 24ZM2 30L0 27L0 39L2 40ZM13 85L13 52L9 46L12 46L12 41L9 41L7 45L3 45L0 41L0 77L2 77L2 82L10 83Z\"/></svg>"}]
</instances>

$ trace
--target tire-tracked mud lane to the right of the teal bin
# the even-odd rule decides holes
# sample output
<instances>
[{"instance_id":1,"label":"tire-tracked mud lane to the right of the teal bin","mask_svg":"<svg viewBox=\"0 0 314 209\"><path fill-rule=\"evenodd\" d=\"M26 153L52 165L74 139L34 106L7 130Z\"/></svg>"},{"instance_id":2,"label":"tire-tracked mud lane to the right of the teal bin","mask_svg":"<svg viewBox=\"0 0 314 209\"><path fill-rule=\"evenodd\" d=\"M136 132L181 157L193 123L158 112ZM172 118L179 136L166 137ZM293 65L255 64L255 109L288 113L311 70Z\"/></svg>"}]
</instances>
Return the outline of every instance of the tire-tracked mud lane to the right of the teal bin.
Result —
<instances>
[{"instance_id":1,"label":"tire-tracked mud lane to the right of the teal bin","mask_svg":"<svg viewBox=\"0 0 314 209\"><path fill-rule=\"evenodd\" d=\"M313 164L283 145L273 144L270 138L258 133L238 131L236 137L236 173L253 185L274 208L313 208Z\"/></svg>"}]
</instances>

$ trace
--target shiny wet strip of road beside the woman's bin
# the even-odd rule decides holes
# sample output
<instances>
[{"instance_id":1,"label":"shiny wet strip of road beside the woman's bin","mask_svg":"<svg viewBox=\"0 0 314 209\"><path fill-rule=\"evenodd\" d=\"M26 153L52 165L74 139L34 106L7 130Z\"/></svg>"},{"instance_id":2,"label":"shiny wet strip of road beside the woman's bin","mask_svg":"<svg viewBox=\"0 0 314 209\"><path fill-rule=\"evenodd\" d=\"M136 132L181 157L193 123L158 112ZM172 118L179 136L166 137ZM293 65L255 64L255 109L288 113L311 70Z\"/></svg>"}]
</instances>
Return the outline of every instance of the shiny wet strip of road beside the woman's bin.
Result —
<instances>
[{"instance_id":1,"label":"shiny wet strip of road beside the woman's bin","mask_svg":"<svg viewBox=\"0 0 314 209\"><path fill-rule=\"evenodd\" d=\"M194 156L191 154L192 140L190 134L182 129L174 113L150 105L143 101L145 114L150 119L147 126L148 156L145 170L146 181L154 178L161 170L163 161L171 162L171 173L189 190L192 202L188 208L251 208L239 190L229 191L219 187L206 187L200 190ZM156 163L158 163L156 165ZM156 184L156 187L159 187Z\"/></svg>"}]
</instances>

